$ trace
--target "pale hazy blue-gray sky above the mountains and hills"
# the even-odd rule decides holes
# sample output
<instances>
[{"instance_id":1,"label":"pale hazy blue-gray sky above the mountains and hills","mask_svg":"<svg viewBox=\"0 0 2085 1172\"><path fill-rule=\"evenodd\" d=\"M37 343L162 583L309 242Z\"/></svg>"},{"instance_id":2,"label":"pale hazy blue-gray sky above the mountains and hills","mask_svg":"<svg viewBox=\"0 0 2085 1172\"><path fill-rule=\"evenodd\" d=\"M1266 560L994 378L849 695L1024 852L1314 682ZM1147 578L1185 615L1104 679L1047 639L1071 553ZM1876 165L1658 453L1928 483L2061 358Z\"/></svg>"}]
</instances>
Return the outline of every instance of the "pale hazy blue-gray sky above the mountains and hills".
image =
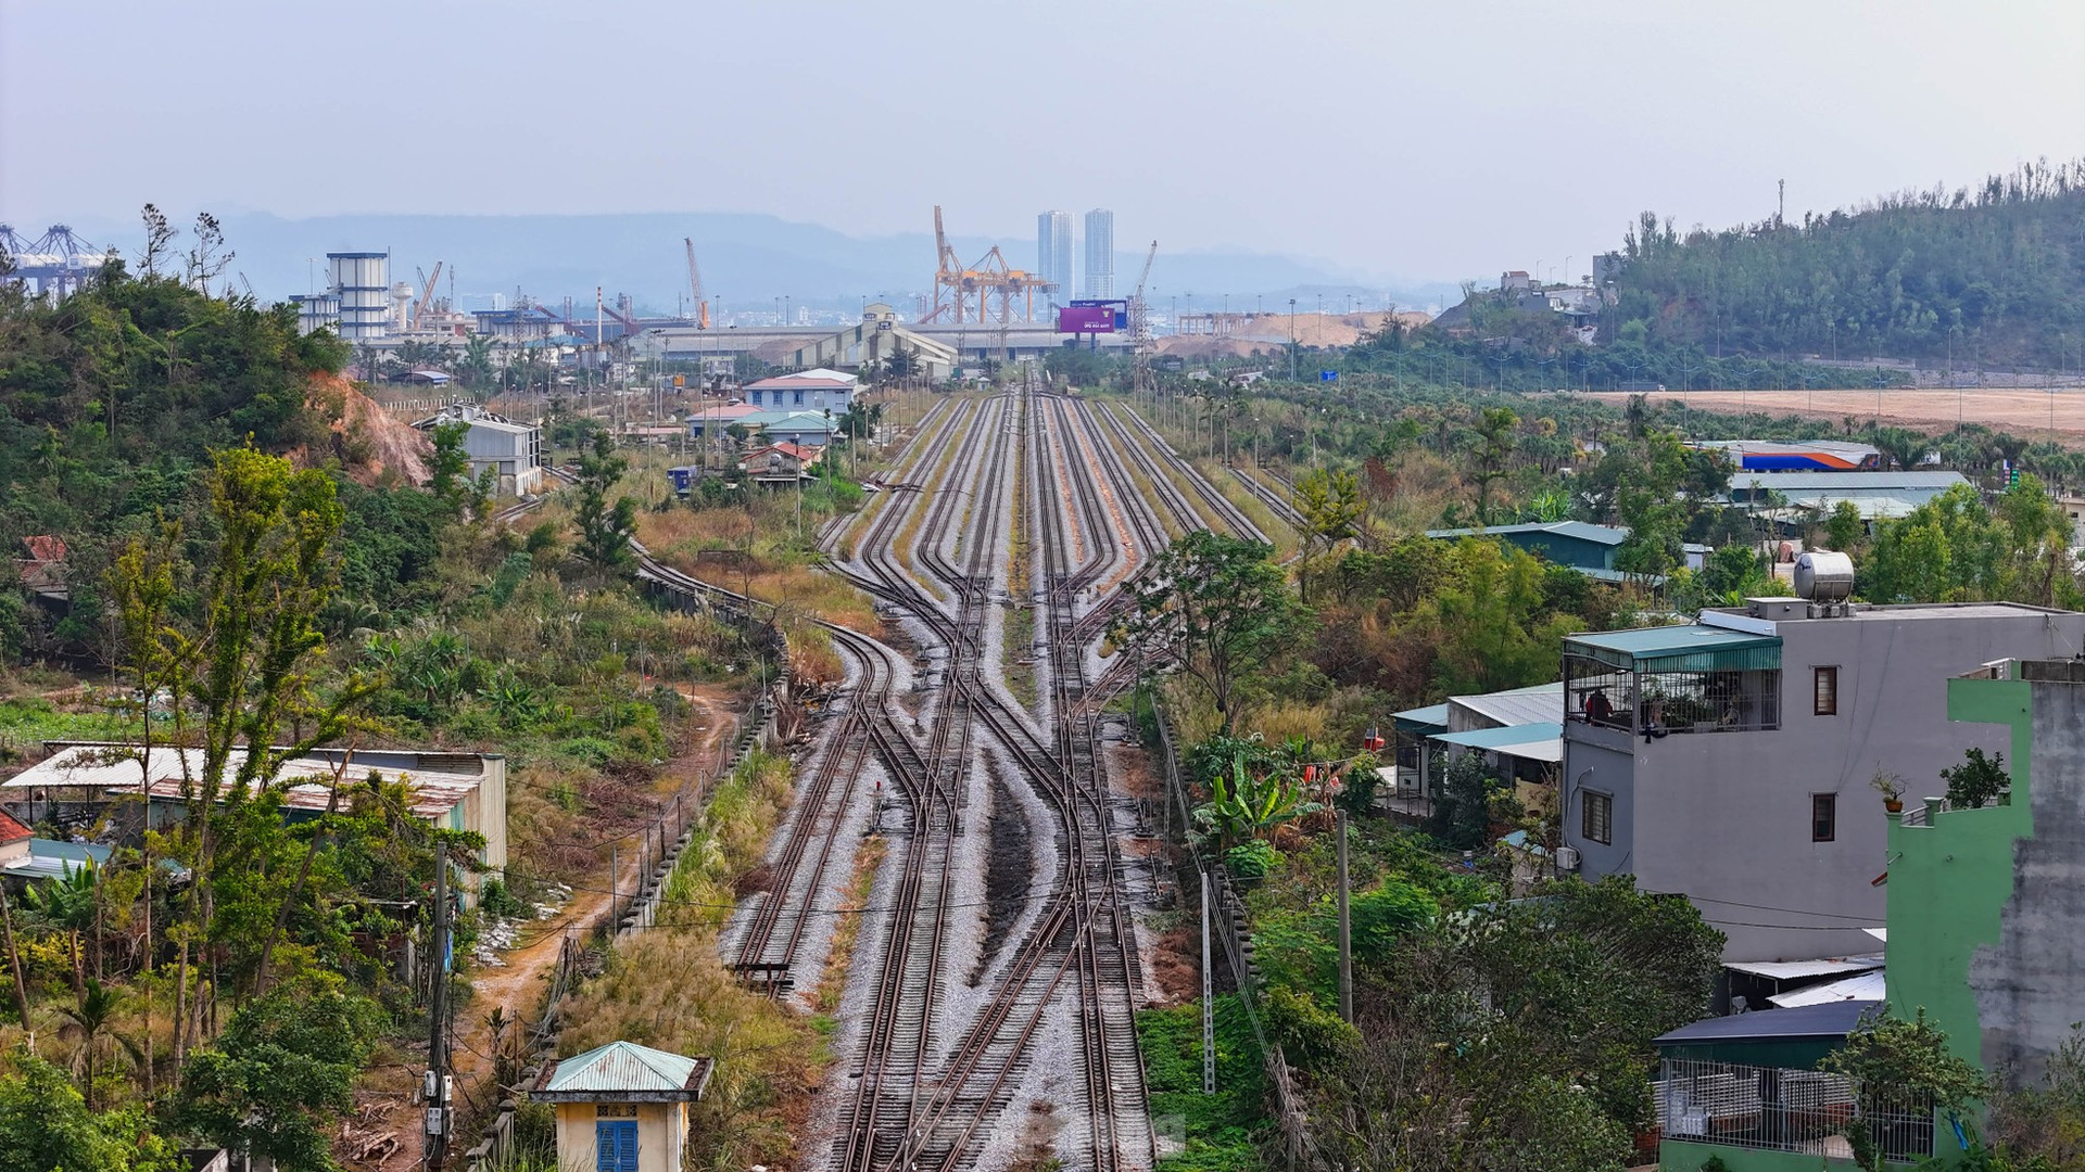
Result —
<instances>
[{"instance_id":1,"label":"pale hazy blue-gray sky above the mountains and hills","mask_svg":"<svg viewBox=\"0 0 2085 1172\"><path fill-rule=\"evenodd\" d=\"M1124 250L1562 275L1641 209L2085 152L2081 63L2077 0L0 0L0 221L1111 206Z\"/></svg>"}]
</instances>

